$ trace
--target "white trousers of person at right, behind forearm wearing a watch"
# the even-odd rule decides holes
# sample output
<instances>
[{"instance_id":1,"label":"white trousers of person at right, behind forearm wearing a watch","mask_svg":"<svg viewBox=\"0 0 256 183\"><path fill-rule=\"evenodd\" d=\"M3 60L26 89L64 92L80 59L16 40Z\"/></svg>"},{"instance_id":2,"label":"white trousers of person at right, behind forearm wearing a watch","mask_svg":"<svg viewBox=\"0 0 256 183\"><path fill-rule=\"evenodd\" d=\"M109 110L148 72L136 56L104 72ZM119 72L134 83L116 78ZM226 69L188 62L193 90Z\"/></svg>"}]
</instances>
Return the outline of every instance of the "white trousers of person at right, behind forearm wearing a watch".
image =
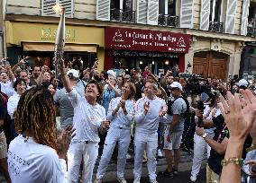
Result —
<instances>
[{"instance_id":1,"label":"white trousers of person at right, behind forearm wearing a watch","mask_svg":"<svg viewBox=\"0 0 256 183\"><path fill-rule=\"evenodd\" d=\"M211 147L206 143L205 139L195 133L194 135L194 157L191 175L197 177L200 171L202 161L204 160L204 153L207 148L207 158L210 156Z\"/></svg>"}]
</instances>

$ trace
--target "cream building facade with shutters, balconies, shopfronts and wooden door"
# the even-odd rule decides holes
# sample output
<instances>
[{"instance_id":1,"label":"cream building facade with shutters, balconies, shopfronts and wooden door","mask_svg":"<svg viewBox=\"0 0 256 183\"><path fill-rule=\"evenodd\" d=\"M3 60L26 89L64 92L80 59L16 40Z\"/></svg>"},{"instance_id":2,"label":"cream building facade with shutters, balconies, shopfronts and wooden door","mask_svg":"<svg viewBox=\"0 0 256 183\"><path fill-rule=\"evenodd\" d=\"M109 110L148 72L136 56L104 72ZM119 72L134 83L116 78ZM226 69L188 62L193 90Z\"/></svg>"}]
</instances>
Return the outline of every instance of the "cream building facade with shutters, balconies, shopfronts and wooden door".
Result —
<instances>
[{"instance_id":1,"label":"cream building facade with shutters, balconies, shopfronts and wooden door","mask_svg":"<svg viewBox=\"0 0 256 183\"><path fill-rule=\"evenodd\" d=\"M88 65L98 57L101 70L149 66L159 74L179 65L225 80L240 73L242 50L256 41L250 0L5 0L8 57L51 59L54 4L66 7L65 52Z\"/></svg>"}]
</instances>

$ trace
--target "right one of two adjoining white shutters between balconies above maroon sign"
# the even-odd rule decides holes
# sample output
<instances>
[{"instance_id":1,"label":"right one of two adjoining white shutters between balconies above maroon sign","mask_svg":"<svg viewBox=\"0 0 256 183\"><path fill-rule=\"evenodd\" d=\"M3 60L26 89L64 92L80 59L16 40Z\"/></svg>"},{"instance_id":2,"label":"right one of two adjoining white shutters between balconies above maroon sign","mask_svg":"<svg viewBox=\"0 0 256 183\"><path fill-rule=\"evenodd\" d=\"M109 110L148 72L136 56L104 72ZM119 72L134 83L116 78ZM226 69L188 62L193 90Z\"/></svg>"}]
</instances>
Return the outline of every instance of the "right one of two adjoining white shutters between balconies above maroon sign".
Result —
<instances>
[{"instance_id":1,"label":"right one of two adjoining white shutters between balconies above maroon sign","mask_svg":"<svg viewBox=\"0 0 256 183\"><path fill-rule=\"evenodd\" d=\"M149 0L148 3L148 24L157 25L159 22L159 1Z\"/></svg>"}]
</instances>

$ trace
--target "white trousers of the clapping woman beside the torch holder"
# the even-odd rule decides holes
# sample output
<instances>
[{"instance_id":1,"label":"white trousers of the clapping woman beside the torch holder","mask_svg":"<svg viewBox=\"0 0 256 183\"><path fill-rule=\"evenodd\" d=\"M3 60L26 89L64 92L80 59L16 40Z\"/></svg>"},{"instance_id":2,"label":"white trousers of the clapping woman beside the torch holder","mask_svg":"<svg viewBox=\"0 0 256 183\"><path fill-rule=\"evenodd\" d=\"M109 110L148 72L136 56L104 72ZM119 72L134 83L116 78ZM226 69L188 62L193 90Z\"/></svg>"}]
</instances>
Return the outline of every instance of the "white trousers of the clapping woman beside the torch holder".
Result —
<instances>
[{"instance_id":1,"label":"white trousers of the clapping woman beside the torch holder","mask_svg":"<svg viewBox=\"0 0 256 183\"><path fill-rule=\"evenodd\" d=\"M105 137L105 145L96 173L96 179L105 175L108 163L111 160L114 146L118 142L117 177L123 178L126 163L126 154L131 142L130 128L110 127Z\"/></svg>"}]
</instances>

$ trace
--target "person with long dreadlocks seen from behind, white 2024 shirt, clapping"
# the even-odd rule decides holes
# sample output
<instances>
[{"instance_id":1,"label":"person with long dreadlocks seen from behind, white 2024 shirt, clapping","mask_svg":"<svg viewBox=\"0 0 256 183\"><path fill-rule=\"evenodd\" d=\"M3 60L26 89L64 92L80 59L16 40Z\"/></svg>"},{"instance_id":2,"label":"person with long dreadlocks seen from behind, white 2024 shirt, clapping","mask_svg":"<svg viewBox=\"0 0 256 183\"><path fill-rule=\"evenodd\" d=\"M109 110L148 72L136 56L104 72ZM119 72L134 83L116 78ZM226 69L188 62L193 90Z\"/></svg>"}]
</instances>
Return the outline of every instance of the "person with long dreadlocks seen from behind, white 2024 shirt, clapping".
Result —
<instances>
[{"instance_id":1,"label":"person with long dreadlocks seen from behind, white 2024 shirt, clapping","mask_svg":"<svg viewBox=\"0 0 256 183\"><path fill-rule=\"evenodd\" d=\"M66 155L72 126L57 135L54 100L48 90L24 92L15 114L19 134L8 151L8 170L13 183L65 183Z\"/></svg>"}]
</instances>

